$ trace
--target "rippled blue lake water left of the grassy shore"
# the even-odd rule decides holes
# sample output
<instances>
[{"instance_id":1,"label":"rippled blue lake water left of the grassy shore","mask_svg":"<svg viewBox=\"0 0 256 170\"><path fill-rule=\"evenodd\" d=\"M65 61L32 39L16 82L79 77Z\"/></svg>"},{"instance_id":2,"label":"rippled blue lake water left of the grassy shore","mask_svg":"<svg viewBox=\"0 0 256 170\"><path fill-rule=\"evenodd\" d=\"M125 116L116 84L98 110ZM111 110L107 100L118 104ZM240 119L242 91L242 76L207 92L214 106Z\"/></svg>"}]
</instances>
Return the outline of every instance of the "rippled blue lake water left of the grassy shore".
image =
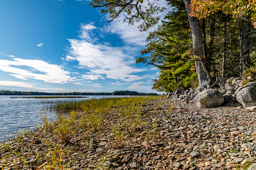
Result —
<instances>
[{"instance_id":1,"label":"rippled blue lake water left of the grassy shore","mask_svg":"<svg viewBox=\"0 0 256 170\"><path fill-rule=\"evenodd\" d=\"M21 130L33 130L40 124L41 116L55 120L56 113L46 110L49 101L88 100L91 98L113 98L130 96L86 96L88 98L33 99L11 97L31 96L0 96L0 141L14 137Z\"/></svg>"}]
</instances>

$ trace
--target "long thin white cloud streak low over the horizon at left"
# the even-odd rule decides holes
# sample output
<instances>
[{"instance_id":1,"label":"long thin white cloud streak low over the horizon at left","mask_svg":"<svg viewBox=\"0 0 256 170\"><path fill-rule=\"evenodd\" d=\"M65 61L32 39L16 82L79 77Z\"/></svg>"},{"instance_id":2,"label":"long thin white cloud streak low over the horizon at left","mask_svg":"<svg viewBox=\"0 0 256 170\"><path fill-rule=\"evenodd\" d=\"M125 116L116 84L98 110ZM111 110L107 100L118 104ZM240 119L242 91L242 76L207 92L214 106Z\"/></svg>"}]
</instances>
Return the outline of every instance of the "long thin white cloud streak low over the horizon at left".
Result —
<instances>
[{"instance_id":1,"label":"long thin white cloud streak low over the horizon at left","mask_svg":"<svg viewBox=\"0 0 256 170\"><path fill-rule=\"evenodd\" d=\"M6 87L22 87L22 88L28 88L28 89L35 89L35 90L41 90L41 91L47 91L47 92L94 92L95 90L90 89L63 89L63 88L41 88L36 87L33 83L25 83L25 82L17 82L17 81L0 81L0 86L6 86Z\"/></svg>"}]
</instances>

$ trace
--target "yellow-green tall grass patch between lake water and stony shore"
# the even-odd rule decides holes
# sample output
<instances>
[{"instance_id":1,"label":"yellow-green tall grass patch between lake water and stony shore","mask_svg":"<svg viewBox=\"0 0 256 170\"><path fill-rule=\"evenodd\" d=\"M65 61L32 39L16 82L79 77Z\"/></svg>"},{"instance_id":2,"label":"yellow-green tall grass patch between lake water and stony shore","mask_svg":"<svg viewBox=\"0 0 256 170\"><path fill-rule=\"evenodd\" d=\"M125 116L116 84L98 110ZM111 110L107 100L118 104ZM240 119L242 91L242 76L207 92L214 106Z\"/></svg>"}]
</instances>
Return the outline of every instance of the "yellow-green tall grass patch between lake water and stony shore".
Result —
<instances>
[{"instance_id":1,"label":"yellow-green tall grass patch between lake water and stony shore","mask_svg":"<svg viewBox=\"0 0 256 170\"><path fill-rule=\"evenodd\" d=\"M83 101L56 101L51 110L58 112L57 121L54 122L56 135L64 142L69 142L69 136L75 134L77 128L84 128L89 131L101 131L104 119L108 111L118 108L120 115L136 124L141 124L143 118L141 106L152 97L124 97L124 98L103 98ZM66 114L69 112L68 114ZM68 115L68 117L67 117ZM44 127L48 127L44 118Z\"/></svg>"}]
</instances>

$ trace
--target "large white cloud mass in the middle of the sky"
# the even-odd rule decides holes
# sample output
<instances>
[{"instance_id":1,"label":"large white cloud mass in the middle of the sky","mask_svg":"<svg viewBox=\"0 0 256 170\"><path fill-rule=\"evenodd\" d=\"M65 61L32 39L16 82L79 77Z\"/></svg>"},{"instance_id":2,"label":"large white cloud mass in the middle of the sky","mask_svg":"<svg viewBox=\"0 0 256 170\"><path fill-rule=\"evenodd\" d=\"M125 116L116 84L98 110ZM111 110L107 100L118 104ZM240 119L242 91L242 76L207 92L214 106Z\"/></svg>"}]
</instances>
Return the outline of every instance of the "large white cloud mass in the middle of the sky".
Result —
<instances>
[{"instance_id":1,"label":"large white cloud mass in the middle of the sky","mask_svg":"<svg viewBox=\"0 0 256 170\"><path fill-rule=\"evenodd\" d=\"M83 75L84 78L96 80L106 75L110 79L123 81L135 81L144 77L132 75L142 72L145 69L134 68L133 56L128 55L123 48L111 47L103 44L92 44L84 40L69 40L69 53L78 62L81 68L90 70L90 73ZM129 48L129 47L126 47Z\"/></svg>"}]
</instances>

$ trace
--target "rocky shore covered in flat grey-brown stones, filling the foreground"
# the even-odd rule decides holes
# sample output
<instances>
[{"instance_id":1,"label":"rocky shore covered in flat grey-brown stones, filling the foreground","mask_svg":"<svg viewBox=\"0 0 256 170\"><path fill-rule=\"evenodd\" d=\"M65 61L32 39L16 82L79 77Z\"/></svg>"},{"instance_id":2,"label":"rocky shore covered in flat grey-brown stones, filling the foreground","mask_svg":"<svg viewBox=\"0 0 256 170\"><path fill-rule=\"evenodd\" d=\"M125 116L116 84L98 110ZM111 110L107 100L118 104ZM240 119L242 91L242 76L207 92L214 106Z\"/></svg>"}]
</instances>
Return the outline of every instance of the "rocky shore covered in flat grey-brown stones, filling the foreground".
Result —
<instances>
[{"instance_id":1,"label":"rocky shore covered in flat grey-brown stones, filling the foreground","mask_svg":"<svg viewBox=\"0 0 256 170\"><path fill-rule=\"evenodd\" d=\"M49 128L0 146L0 169L256 169L256 114L154 98L129 124L110 110L101 131L63 143ZM56 168L58 167L58 168Z\"/></svg>"}]
</instances>

